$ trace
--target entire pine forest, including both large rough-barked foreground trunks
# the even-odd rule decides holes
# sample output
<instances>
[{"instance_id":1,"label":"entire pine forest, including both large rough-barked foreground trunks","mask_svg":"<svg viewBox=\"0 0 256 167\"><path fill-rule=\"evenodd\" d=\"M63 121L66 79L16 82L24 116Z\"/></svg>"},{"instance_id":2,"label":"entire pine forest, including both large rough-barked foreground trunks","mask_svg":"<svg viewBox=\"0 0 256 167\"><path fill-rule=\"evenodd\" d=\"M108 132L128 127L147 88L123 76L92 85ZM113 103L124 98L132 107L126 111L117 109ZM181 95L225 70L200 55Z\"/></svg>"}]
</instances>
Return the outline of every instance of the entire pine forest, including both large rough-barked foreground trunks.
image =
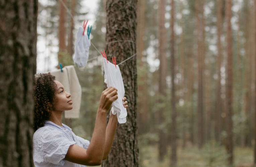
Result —
<instances>
[{"instance_id":1,"label":"entire pine forest, including both large rough-barked foreground trunks","mask_svg":"<svg viewBox=\"0 0 256 167\"><path fill-rule=\"evenodd\" d=\"M34 73L74 65L87 19L80 117L63 117L76 135L91 139L105 88L98 50L136 53L119 65L128 116L102 167L255 166L256 0L29 2L0 2L0 166L33 166Z\"/></svg>"}]
</instances>

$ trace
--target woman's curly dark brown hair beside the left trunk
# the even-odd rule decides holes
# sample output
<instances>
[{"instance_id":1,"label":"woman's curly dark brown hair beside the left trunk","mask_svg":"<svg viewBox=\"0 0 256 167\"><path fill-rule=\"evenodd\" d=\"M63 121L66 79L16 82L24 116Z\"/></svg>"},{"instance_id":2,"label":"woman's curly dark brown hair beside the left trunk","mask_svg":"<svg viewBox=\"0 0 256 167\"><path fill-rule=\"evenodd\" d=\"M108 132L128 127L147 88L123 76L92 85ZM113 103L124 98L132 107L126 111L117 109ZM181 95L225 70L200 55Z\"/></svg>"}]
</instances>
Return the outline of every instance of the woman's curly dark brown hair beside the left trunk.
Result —
<instances>
[{"instance_id":1,"label":"woman's curly dark brown hair beside the left trunk","mask_svg":"<svg viewBox=\"0 0 256 167\"><path fill-rule=\"evenodd\" d=\"M35 77L34 87L34 132L43 127L46 120L49 120L54 109L55 92L57 85L54 82L55 76L51 73L39 73Z\"/></svg>"}]
</instances>

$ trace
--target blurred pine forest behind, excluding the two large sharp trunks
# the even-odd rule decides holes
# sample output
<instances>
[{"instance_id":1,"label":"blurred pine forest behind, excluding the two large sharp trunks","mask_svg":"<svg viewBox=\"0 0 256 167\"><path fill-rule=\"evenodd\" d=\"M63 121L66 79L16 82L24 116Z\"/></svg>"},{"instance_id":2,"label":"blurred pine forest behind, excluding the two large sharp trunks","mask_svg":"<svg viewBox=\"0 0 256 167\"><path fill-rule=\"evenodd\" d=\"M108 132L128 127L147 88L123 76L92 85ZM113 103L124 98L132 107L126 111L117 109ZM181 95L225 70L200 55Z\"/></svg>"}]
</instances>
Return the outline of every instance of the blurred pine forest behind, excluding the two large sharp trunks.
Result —
<instances>
[{"instance_id":1,"label":"blurred pine forest behind, excluding the two large sharp trunks","mask_svg":"<svg viewBox=\"0 0 256 167\"><path fill-rule=\"evenodd\" d=\"M72 21L68 12L60 12L63 7L60 2L39 0L37 73L54 70L58 68L58 63L63 66L73 64L74 40L84 19L89 18L88 24L92 25L90 39L96 48L102 50L106 45L106 0L92 4L81 0L64 2L80 25ZM172 40L171 0L138 1L136 42L140 166L169 166L170 163L172 65L177 115L174 132L177 136L177 165L228 165L231 155L225 151L227 117L230 117L227 111L227 2L174 1L175 40ZM255 7L251 0L233 0L231 9L232 147L234 164L243 166L253 163L255 144ZM65 20L61 23L59 18L63 15ZM59 24L64 25L64 29L60 29ZM61 40L65 42L61 44ZM171 42L174 42L175 64L171 64ZM116 58L118 63L118 56ZM101 55L90 46L87 66L76 68L83 92L80 118L64 121L76 134L88 140L93 133L98 100L103 90L101 61ZM165 83L160 83L161 79ZM163 137L159 131L164 134Z\"/></svg>"}]
</instances>

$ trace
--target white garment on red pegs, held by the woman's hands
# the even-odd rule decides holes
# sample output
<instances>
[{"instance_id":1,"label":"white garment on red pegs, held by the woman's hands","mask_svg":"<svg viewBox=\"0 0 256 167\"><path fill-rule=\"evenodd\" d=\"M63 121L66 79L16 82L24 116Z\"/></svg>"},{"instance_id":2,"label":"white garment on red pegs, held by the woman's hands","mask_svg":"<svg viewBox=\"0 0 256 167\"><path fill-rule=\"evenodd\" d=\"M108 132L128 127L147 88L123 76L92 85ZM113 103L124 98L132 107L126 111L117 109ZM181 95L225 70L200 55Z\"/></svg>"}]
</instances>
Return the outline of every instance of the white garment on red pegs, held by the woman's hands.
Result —
<instances>
[{"instance_id":1,"label":"white garment on red pegs, held by the woman's hands","mask_svg":"<svg viewBox=\"0 0 256 167\"><path fill-rule=\"evenodd\" d=\"M104 82L107 84L107 87L114 87L117 89L118 99L112 103L112 114L117 114L117 120L119 124L126 122L127 110L123 106L123 100L125 91L123 86L123 79L119 69L119 66L110 63L105 58L103 58L103 68L104 68Z\"/></svg>"}]
</instances>

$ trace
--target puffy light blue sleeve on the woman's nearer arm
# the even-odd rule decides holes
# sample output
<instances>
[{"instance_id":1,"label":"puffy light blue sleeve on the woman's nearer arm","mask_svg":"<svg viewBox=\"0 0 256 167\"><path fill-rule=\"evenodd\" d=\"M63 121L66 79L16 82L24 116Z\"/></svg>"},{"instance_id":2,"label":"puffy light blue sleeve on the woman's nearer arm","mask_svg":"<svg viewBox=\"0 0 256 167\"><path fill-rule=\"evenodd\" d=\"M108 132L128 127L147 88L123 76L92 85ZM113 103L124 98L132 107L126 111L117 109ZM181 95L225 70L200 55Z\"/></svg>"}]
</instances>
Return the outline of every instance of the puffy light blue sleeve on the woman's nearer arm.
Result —
<instances>
[{"instance_id":1,"label":"puffy light blue sleeve on the woman's nearer arm","mask_svg":"<svg viewBox=\"0 0 256 167\"><path fill-rule=\"evenodd\" d=\"M45 161L63 166L69 146L76 142L68 139L61 131L50 131L41 134L41 137L43 139L42 154Z\"/></svg>"}]
</instances>

